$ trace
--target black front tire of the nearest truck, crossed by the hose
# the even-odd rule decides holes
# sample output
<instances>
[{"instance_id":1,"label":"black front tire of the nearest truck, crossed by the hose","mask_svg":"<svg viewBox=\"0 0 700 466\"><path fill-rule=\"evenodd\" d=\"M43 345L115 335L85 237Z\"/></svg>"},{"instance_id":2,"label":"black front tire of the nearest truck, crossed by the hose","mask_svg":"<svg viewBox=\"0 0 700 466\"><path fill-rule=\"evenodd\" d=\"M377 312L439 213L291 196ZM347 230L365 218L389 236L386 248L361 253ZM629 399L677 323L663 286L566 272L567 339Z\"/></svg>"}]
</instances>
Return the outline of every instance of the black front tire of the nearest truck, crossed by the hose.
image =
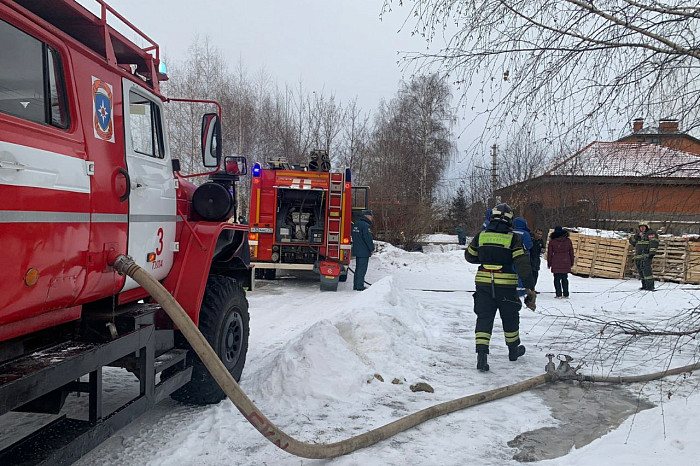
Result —
<instances>
[{"instance_id":1,"label":"black front tire of the nearest truck, crossed by the hose","mask_svg":"<svg viewBox=\"0 0 700 466\"><path fill-rule=\"evenodd\" d=\"M207 281L199 313L199 330L239 381L245 365L250 333L250 316L245 291L236 280L212 275ZM226 395L199 357L192 355L192 380L170 395L177 401L206 405L218 403Z\"/></svg>"}]
</instances>

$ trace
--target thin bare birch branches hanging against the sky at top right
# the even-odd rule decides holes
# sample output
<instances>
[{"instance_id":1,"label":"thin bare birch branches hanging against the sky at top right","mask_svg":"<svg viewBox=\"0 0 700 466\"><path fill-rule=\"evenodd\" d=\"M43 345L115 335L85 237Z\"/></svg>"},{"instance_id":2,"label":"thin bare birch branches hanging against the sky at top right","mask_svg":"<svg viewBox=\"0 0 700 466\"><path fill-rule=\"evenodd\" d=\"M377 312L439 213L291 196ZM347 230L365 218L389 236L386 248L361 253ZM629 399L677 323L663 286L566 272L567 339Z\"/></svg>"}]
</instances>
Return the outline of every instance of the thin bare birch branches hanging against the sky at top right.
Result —
<instances>
[{"instance_id":1,"label":"thin bare birch branches hanging against the sky at top right","mask_svg":"<svg viewBox=\"0 0 700 466\"><path fill-rule=\"evenodd\" d=\"M404 4L439 49L406 64L447 73L486 135L520 123L590 140L638 116L700 126L697 2L385 0L385 14Z\"/></svg>"}]
</instances>

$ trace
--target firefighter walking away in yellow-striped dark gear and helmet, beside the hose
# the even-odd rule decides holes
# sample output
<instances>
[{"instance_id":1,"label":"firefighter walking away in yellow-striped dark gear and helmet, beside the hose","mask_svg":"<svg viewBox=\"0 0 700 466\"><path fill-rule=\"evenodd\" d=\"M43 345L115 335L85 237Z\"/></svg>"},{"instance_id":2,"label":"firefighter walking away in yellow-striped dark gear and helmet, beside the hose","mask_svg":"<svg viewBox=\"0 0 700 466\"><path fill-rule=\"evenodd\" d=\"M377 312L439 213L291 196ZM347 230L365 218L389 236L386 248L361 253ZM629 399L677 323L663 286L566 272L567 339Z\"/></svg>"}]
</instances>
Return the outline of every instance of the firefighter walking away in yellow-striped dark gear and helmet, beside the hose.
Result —
<instances>
[{"instance_id":1,"label":"firefighter walking away in yellow-striped dark gear and helmet, beside the hose","mask_svg":"<svg viewBox=\"0 0 700 466\"><path fill-rule=\"evenodd\" d=\"M520 235L514 234L513 211L508 204L493 208L486 230L478 233L464 252L472 264L480 264L476 273L474 312L476 313L476 368L488 371L489 343L496 310L501 314L503 333L508 346L508 359L516 361L525 354L520 344L520 298L518 276L527 296L525 304L535 310L536 294L530 258L523 248ZM513 271L513 266L517 274Z\"/></svg>"}]
</instances>

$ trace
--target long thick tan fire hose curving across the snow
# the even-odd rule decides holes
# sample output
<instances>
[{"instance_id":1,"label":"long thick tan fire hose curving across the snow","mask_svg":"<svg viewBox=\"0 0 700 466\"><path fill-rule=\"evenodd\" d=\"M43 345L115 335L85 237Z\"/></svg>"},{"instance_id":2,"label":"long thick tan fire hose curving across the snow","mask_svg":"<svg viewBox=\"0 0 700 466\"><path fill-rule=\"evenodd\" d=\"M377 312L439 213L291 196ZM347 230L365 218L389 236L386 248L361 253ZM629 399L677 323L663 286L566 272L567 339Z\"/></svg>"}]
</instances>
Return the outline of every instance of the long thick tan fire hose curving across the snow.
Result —
<instances>
[{"instance_id":1,"label":"long thick tan fire hose curving across the snow","mask_svg":"<svg viewBox=\"0 0 700 466\"><path fill-rule=\"evenodd\" d=\"M657 372L648 376L638 377L603 377L594 378L589 376L581 376L576 373L578 368L572 368L569 365L570 357L560 360L559 368L554 368L552 358L554 355L548 355L549 363L546 366L546 373L537 377L518 382L505 387L496 388L482 393L457 398L452 401L440 403L429 408L422 409L418 412L397 419L389 424L370 430L360 435L350 437L334 443L312 444L297 440L275 426L264 414L262 414L257 406L243 392L238 383L233 379L224 364L211 348L206 338L199 331L192 319L187 315L185 310L173 298L173 296L148 272L139 267L129 256L119 255L115 262L114 268L123 275L128 275L141 285L148 294L165 310L170 316L173 323L182 332L187 339L192 349L197 353L202 363L207 370L212 374L216 382L222 388L224 393L233 402L241 414L270 442L277 445L286 452L304 457L304 458L334 458L345 455L361 448L374 445L382 440L392 437L400 432L415 427L423 422L429 421L445 414L453 413L465 408L476 406L489 401L505 398L516 393L522 393L532 388L538 387L548 382L556 380L585 380L598 382L638 382L646 380L654 380L665 377L667 375L680 374L700 368L700 363L684 366L668 371ZM652 378L649 378L652 377Z\"/></svg>"}]
</instances>

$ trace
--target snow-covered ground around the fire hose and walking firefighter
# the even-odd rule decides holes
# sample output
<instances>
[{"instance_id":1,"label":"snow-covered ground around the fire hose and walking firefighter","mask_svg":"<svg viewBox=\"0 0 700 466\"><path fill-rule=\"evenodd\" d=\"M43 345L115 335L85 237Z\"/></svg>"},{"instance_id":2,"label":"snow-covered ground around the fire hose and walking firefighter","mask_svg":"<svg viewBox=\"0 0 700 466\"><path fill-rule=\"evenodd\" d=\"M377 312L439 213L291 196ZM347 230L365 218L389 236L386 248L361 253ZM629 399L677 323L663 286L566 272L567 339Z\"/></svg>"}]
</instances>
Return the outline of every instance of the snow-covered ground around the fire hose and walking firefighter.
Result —
<instances>
[{"instance_id":1,"label":"snow-covered ground around the fire hose and walking firefighter","mask_svg":"<svg viewBox=\"0 0 700 466\"><path fill-rule=\"evenodd\" d=\"M454 242L456 243L456 237ZM476 370L471 292L476 267L456 244L408 253L382 244L372 286L321 293L313 277L283 276L249 293L250 349L241 386L278 427L307 442L336 442L437 403L544 372L547 353L584 362L584 374L638 375L699 359L687 337L616 338L598 320L667 328L700 306L700 287L571 277L556 300L540 271L537 312L521 311L527 354L507 358L497 317L489 363ZM383 378L381 382L375 374ZM398 379L400 383L392 383ZM427 382L435 392L412 392ZM627 387L559 382L434 419L332 460L297 458L264 439L225 400L161 403L80 465L546 465L698 464L696 375ZM655 407L649 408L653 403Z\"/></svg>"}]
</instances>

